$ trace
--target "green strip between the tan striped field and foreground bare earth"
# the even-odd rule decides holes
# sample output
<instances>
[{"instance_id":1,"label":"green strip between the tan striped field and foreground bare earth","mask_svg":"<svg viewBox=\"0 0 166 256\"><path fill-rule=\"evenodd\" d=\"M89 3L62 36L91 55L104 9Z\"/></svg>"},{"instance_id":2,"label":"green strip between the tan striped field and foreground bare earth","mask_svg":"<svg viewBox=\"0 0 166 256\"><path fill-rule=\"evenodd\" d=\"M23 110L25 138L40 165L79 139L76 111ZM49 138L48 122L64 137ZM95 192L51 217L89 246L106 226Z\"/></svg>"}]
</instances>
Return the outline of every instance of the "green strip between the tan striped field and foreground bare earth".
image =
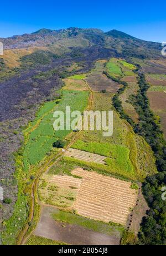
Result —
<instances>
[{"instance_id":1,"label":"green strip between the tan striped field and foreground bare earth","mask_svg":"<svg viewBox=\"0 0 166 256\"><path fill-rule=\"evenodd\" d=\"M84 228L93 230L95 232L104 233L107 235L112 235L115 232L120 232L122 235L122 232L124 230L124 228L121 227L121 225L117 225L114 223L106 224L102 223L101 221L84 218L80 215L68 213L66 211L61 210L58 210L57 213L54 213L53 218L64 223L80 225Z\"/></svg>"}]
</instances>

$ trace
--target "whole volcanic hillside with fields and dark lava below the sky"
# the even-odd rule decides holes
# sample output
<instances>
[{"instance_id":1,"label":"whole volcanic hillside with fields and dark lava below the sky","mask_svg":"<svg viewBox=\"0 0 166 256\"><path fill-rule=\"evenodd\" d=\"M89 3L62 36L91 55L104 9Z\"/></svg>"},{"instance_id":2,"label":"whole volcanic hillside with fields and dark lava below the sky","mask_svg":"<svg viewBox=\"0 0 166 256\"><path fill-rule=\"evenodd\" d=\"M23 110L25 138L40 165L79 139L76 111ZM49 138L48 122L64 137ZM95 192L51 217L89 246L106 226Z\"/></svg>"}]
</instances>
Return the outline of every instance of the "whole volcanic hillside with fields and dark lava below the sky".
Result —
<instances>
[{"instance_id":1,"label":"whole volcanic hillside with fields and dark lava below the sky","mask_svg":"<svg viewBox=\"0 0 166 256\"><path fill-rule=\"evenodd\" d=\"M43 28L0 41L0 244L56 244L54 224L64 243L81 243L76 232L85 243L88 232L96 244L98 233L103 243L164 244L166 60L160 44L95 28ZM54 131L53 113L66 106L81 113L112 110L113 135ZM53 224L45 240L41 206L44 225Z\"/></svg>"}]
</instances>

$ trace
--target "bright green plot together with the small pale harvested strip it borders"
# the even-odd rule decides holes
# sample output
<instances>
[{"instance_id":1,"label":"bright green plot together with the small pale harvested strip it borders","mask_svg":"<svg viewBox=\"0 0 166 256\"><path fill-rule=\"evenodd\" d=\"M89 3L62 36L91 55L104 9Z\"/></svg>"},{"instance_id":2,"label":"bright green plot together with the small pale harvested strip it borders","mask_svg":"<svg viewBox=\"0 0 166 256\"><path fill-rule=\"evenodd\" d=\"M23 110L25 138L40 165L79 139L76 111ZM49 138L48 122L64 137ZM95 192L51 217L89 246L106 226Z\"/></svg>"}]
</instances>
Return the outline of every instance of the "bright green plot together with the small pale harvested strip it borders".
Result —
<instances>
[{"instance_id":1,"label":"bright green plot together with the small pale harvested strip it borders","mask_svg":"<svg viewBox=\"0 0 166 256\"><path fill-rule=\"evenodd\" d=\"M71 156L72 159L80 159L80 161L84 161L84 163L90 162L89 165L96 166L97 169L101 169L108 173L120 174L123 177L136 179L134 174L134 168L129 159L129 149L122 145L113 145L107 143L98 143L98 142L84 142L78 140L74 145L72 145L74 149L79 149L79 151L74 151L72 155L67 154L67 156ZM80 150L81 154L79 154ZM93 155L89 156L90 152ZM104 158L98 157L98 155L105 156ZM78 156L79 155L79 156ZM74 158L73 158L74 156ZM92 163L92 159L94 164ZM103 165L105 163L105 165ZM103 166L102 166L103 165Z\"/></svg>"}]
</instances>

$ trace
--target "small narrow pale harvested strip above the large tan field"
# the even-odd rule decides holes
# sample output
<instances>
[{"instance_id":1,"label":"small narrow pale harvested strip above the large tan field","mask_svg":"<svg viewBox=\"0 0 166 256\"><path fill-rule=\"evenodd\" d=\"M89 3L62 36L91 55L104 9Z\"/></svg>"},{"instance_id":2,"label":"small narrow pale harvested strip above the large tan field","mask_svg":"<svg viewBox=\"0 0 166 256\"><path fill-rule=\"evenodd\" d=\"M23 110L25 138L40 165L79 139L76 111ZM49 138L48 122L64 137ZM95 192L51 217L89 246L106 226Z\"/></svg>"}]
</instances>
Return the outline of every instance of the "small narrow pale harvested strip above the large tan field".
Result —
<instances>
[{"instance_id":1,"label":"small narrow pale harvested strip above the large tan field","mask_svg":"<svg viewBox=\"0 0 166 256\"><path fill-rule=\"evenodd\" d=\"M66 151L66 156L75 157L77 159L87 161L87 162L95 162L97 164L105 164L105 156L92 154L90 152L78 150L78 149L69 149Z\"/></svg>"}]
</instances>

